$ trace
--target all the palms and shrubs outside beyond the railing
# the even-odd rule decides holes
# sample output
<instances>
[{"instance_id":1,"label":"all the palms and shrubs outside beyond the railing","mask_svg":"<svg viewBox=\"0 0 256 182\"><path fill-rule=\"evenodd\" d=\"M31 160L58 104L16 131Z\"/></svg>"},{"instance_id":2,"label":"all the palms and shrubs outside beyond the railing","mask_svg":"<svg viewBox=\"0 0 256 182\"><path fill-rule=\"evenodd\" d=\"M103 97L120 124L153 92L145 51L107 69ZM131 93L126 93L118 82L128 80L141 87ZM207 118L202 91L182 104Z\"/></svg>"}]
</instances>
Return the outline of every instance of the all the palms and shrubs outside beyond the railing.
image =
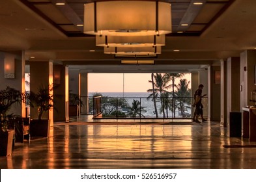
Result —
<instances>
[{"instance_id":1,"label":"all the palms and shrubs outside beyond the railing","mask_svg":"<svg viewBox=\"0 0 256 182\"><path fill-rule=\"evenodd\" d=\"M151 73L149 83L149 96L147 100L151 100L154 107L152 111L156 118L159 114L161 117L175 117L175 112L182 117L188 116L188 109L191 108L191 89L190 81L181 79L185 73ZM179 79L179 83L176 79ZM176 84L175 84L176 83ZM147 112L146 107L141 106L141 101L132 98L109 98L102 96L100 93L94 93L93 97L101 96L100 112L102 116L123 116L123 117L145 117L143 114ZM150 103L149 103L150 104ZM89 108L92 108L92 98L89 99ZM152 113L151 112L151 113Z\"/></svg>"}]
</instances>

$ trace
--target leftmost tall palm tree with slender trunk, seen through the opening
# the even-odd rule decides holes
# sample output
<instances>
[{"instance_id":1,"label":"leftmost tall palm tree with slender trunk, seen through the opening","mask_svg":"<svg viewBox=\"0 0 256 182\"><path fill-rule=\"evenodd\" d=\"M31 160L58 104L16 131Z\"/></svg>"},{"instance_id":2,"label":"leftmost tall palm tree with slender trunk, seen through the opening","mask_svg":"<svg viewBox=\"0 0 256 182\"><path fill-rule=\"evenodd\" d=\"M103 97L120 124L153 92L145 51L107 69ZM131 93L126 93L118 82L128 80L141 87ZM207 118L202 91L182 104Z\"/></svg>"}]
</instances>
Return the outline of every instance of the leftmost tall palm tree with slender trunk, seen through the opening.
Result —
<instances>
[{"instance_id":1,"label":"leftmost tall palm tree with slender trunk, seen through the opening","mask_svg":"<svg viewBox=\"0 0 256 182\"><path fill-rule=\"evenodd\" d=\"M171 85L168 85L169 79L168 79L168 75L167 73L156 73L154 74L154 81L149 81L150 83L152 83L152 85L154 85L154 89L149 89L147 90L147 92L157 92L160 93L160 101L161 101L161 106L162 108L164 107L164 101L162 97L162 94L164 94L165 92L167 92L168 88L170 88ZM155 95L150 94L148 98L154 98ZM163 109L163 114L165 117L165 110Z\"/></svg>"}]
</instances>

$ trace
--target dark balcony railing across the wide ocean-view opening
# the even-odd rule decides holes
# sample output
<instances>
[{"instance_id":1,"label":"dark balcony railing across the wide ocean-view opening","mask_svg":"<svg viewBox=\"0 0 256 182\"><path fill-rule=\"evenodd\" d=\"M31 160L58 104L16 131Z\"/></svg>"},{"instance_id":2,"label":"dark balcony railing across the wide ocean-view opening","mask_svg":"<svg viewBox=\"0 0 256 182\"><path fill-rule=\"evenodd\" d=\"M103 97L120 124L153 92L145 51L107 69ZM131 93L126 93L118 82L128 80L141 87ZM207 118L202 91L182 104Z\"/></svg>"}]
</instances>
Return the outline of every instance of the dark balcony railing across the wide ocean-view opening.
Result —
<instances>
[{"instance_id":1,"label":"dark balcony railing across the wide ocean-view opening","mask_svg":"<svg viewBox=\"0 0 256 182\"><path fill-rule=\"evenodd\" d=\"M203 98L204 116L208 99ZM192 118L193 98L93 98L94 118Z\"/></svg>"}]
</instances>

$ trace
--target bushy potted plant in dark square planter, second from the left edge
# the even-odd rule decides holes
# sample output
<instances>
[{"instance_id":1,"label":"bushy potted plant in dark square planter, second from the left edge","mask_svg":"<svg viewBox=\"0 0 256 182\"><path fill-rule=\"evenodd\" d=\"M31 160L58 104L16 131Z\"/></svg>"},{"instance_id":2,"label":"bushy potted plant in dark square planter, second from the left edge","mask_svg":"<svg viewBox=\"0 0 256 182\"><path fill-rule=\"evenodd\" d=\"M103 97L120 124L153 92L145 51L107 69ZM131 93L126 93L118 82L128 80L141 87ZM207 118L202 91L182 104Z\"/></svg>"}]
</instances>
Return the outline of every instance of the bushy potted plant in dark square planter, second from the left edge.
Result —
<instances>
[{"instance_id":1,"label":"bushy potted plant in dark square planter, second from the left edge","mask_svg":"<svg viewBox=\"0 0 256 182\"><path fill-rule=\"evenodd\" d=\"M53 109L53 86L40 86L38 91L29 93L29 105L36 108L38 118L30 122L30 135L48 137L50 120L43 119L46 112Z\"/></svg>"}]
</instances>

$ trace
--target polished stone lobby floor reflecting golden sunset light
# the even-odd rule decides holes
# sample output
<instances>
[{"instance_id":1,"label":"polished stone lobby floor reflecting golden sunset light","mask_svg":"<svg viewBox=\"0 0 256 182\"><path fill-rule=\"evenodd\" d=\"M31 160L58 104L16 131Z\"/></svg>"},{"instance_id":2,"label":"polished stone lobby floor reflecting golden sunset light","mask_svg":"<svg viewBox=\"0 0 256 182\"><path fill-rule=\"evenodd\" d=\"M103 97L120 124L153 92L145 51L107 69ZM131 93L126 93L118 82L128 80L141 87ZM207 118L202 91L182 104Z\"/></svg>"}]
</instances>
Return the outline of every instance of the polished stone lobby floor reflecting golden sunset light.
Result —
<instances>
[{"instance_id":1,"label":"polished stone lobby floor reflecting golden sunset light","mask_svg":"<svg viewBox=\"0 0 256 182\"><path fill-rule=\"evenodd\" d=\"M49 138L16 143L0 168L256 168L255 146L227 137L218 122L87 116L55 123Z\"/></svg>"}]
</instances>

